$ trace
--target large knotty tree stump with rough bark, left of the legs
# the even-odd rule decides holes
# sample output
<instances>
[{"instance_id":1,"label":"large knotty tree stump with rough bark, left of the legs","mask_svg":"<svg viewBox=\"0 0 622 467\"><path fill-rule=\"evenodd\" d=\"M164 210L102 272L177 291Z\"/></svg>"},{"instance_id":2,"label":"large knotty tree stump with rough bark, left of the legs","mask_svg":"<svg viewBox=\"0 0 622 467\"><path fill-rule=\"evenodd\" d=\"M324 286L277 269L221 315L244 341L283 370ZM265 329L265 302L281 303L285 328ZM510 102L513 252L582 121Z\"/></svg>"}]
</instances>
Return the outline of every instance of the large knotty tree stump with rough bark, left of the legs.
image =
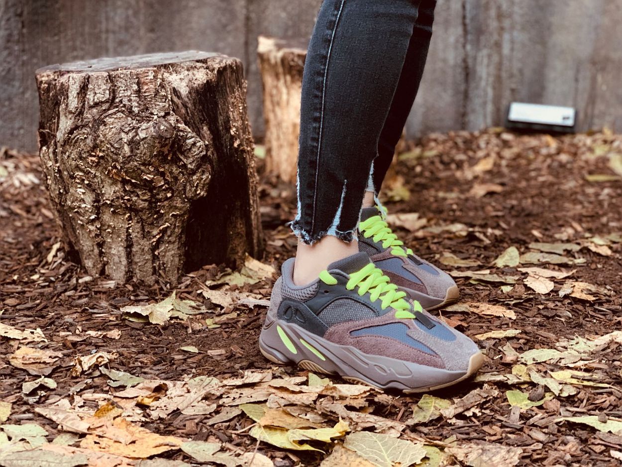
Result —
<instances>
[{"instance_id":1,"label":"large knotty tree stump with rough bark, left of the legs","mask_svg":"<svg viewBox=\"0 0 622 467\"><path fill-rule=\"evenodd\" d=\"M152 54L37 70L39 150L70 252L91 276L173 285L261 252L238 59Z\"/></svg>"}]
</instances>

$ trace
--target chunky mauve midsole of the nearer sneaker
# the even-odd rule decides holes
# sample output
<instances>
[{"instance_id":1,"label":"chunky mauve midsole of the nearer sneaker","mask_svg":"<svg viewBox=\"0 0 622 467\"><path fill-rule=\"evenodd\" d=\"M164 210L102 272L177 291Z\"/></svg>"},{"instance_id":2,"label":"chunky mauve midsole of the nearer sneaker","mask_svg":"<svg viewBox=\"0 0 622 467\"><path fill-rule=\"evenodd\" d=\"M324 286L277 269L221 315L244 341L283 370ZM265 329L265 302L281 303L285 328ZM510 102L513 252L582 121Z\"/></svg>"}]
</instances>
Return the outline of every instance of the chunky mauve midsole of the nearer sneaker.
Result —
<instances>
[{"instance_id":1,"label":"chunky mauve midsole of the nearer sneaker","mask_svg":"<svg viewBox=\"0 0 622 467\"><path fill-rule=\"evenodd\" d=\"M289 347L295 347L296 353L288 348L279 335L277 331L279 327L289 339ZM309 349L305 342L315 352ZM356 347L342 346L327 341L297 324L287 323L281 319L277 319L276 323L272 323L268 328L262 329L259 346L263 352L282 363L297 364L303 360L311 361L327 373L358 378L383 389L404 390L448 384L462 378L468 370L446 370L391 357L366 354Z\"/></svg>"}]
</instances>

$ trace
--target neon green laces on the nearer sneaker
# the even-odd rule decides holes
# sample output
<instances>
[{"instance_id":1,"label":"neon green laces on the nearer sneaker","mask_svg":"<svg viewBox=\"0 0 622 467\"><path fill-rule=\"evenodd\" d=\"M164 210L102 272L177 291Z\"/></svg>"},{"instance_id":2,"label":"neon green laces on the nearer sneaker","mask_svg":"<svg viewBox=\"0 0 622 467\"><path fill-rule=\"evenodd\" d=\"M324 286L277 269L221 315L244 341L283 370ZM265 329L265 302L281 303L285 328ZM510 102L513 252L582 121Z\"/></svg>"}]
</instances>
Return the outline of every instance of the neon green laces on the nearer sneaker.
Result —
<instances>
[{"instance_id":1,"label":"neon green laces on the nearer sneaker","mask_svg":"<svg viewBox=\"0 0 622 467\"><path fill-rule=\"evenodd\" d=\"M328 285L337 283L337 279L330 275L328 271L320 273L320 280ZM355 287L358 287L358 295L362 296L369 292L371 301L381 300L382 309L391 306L396 309L396 314L399 312L402 312L401 314L403 312L412 314L409 311L412 309L411 304L404 300L406 292L397 290L397 285L392 284L388 276L385 276L383 271L376 268L373 263L369 263L355 273L350 274L350 280L346 283L346 289L354 290ZM418 302L415 303L419 304ZM416 306L415 309L417 309ZM414 315L403 317L414 318Z\"/></svg>"}]
</instances>

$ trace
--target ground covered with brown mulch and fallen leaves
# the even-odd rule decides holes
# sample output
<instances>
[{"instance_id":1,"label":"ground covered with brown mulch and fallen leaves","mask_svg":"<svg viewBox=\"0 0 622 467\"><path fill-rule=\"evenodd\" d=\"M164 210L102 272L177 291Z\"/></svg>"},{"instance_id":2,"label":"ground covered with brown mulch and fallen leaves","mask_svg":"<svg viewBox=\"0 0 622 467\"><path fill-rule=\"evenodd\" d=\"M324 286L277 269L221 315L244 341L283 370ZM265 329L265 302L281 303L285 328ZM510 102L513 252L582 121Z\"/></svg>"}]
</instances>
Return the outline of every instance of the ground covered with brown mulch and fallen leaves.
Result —
<instances>
[{"instance_id":1,"label":"ground covered with brown mulch and fallen leaves","mask_svg":"<svg viewBox=\"0 0 622 467\"><path fill-rule=\"evenodd\" d=\"M0 153L0 466L620 465L622 136L492 128L399 154L389 219L457 280L440 314L487 356L409 396L259 354L295 250L294 191L259 166L266 256L172 290L86 276L38 158Z\"/></svg>"}]
</instances>

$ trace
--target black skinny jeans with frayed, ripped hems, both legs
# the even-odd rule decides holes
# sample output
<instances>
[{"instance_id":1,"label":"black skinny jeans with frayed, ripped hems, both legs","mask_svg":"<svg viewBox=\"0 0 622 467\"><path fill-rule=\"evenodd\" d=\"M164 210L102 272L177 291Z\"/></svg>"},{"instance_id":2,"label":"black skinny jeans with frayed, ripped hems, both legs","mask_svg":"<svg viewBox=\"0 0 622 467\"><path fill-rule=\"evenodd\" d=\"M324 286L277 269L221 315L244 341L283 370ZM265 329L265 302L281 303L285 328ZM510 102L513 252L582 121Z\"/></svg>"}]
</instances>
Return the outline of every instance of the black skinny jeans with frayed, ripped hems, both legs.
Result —
<instances>
[{"instance_id":1,"label":"black skinny jeans with frayed, ripped hems, both legs","mask_svg":"<svg viewBox=\"0 0 622 467\"><path fill-rule=\"evenodd\" d=\"M298 214L305 243L353 240L419 88L435 0L324 0L302 80Z\"/></svg>"}]
</instances>

